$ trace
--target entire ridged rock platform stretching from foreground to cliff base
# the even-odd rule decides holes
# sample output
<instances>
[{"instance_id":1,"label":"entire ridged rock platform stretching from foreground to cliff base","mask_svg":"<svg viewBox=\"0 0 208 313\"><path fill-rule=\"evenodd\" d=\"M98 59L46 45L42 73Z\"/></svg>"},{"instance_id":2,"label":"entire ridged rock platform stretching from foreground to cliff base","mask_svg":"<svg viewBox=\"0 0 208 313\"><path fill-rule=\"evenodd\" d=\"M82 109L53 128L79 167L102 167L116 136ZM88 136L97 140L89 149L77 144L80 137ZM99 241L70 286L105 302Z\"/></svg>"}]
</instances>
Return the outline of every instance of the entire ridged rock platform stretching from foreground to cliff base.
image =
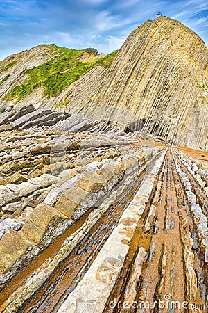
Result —
<instances>
[{"instance_id":1,"label":"entire ridged rock platform stretching from foreground to cliff base","mask_svg":"<svg viewBox=\"0 0 208 313\"><path fill-rule=\"evenodd\" d=\"M207 312L207 152L33 106L0 120L0 312Z\"/></svg>"}]
</instances>

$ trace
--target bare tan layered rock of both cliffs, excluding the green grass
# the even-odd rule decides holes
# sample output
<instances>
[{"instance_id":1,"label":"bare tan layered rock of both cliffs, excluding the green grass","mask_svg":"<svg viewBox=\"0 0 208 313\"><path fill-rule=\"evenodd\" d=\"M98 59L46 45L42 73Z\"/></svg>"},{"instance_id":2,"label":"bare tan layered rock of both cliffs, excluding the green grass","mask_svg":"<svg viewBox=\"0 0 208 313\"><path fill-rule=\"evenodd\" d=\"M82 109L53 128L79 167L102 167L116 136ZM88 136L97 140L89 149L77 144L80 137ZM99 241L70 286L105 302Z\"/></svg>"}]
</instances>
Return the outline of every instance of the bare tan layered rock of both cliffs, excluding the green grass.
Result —
<instances>
[{"instance_id":1,"label":"bare tan layered rock of both cliffs, excluding the green grass","mask_svg":"<svg viewBox=\"0 0 208 313\"><path fill-rule=\"evenodd\" d=\"M37 48L39 54L33 49L28 51L26 61L22 58L24 65L28 62L28 66L35 67L38 62L44 63L51 58L45 52L43 56L40 47ZM207 47L196 33L180 22L159 17L130 34L110 67L95 63L82 77L50 98L44 95L42 86L34 86L31 93L18 101L5 99L14 86L27 79L18 62L4 71L4 76L1 73L0 80L13 71L0 84L0 104L6 107L15 104L17 109L33 104L36 108L61 108L69 113L107 106L110 113L107 116L107 110L104 110L103 119L112 120L114 114L114 120L126 125L126 121L123 123L124 109L132 114L127 118L129 124L134 115L140 121L136 127L139 131L167 138L173 145L205 148L207 62ZM102 110L95 111L102 114Z\"/></svg>"}]
</instances>

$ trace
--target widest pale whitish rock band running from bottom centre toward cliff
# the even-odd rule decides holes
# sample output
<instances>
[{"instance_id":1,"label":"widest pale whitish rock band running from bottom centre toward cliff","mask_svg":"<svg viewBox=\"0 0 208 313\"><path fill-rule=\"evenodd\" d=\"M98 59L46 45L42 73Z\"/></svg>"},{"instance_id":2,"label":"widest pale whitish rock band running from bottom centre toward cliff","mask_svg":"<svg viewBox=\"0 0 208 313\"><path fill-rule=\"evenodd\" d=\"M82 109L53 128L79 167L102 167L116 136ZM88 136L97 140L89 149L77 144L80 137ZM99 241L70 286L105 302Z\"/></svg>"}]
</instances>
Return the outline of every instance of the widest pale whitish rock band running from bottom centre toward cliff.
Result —
<instances>
[{"instance_id":1,"label":"widest pale whitish rock band running from bottom centre toward cliff","mask_svg":"<svg viewBox=\"0 0 208 313\"><path fill-rule=\"evenodd\" d=\"M163 152L162 156L156 161L150 175L146 177L135 198L125 209L119 220L119 225L113 230L110 238L107 239L83 280L70 294L58 312L103 312L106 299L110 296L110 291L119 277L123 261L128 254L130 240L139 218L144 212L165 154L166 152Z\"/></svg>"}]
</instances>

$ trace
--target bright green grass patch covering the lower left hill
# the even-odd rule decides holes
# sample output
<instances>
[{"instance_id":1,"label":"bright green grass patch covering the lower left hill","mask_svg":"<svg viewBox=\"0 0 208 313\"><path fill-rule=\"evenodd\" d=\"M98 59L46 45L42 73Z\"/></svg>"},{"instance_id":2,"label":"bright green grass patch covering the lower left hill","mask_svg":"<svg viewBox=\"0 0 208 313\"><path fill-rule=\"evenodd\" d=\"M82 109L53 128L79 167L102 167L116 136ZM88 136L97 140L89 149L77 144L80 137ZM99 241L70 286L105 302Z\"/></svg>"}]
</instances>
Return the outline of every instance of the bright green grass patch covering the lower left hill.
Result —
<instances>
[{"instance_id":1,"label":"bright green grass patch covering the lower left hill","mask_svg":"<svg viewBox=\"0 0 208 313\"><path fill-rule=\"evenodd\" d=\"M55 56L42 65L26 70L28 79L12 88L5 99L16 99L18 102L40 86L43 86L45 96L50 98L58 95L92 67L109 67L117 53L114 51L104 58L98 58L98 52L92 48L75 50L53 46L51 51Z\"/></svg>"}]
</instances>

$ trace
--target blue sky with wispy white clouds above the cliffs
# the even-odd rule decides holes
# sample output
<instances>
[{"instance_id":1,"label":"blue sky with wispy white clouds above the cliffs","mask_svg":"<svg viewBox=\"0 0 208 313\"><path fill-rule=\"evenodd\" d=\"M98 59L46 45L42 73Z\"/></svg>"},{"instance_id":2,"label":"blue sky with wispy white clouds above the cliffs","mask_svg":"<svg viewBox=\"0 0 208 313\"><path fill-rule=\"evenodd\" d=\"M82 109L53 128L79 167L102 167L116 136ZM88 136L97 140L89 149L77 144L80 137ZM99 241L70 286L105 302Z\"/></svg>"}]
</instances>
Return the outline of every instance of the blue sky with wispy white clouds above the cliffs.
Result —
<instances>
[{"instance_id":1,"label":"blue sky with wispy white clouds above the cliffs","mask_svg":"<svg viewBox=\"0 0 208 313\"><path fill-rule=\"evenodd\" d=\"M208 45L207 0L0 0L0 60L43 42L107 54L158 11Z\"/></svg>"}]
</instances>

